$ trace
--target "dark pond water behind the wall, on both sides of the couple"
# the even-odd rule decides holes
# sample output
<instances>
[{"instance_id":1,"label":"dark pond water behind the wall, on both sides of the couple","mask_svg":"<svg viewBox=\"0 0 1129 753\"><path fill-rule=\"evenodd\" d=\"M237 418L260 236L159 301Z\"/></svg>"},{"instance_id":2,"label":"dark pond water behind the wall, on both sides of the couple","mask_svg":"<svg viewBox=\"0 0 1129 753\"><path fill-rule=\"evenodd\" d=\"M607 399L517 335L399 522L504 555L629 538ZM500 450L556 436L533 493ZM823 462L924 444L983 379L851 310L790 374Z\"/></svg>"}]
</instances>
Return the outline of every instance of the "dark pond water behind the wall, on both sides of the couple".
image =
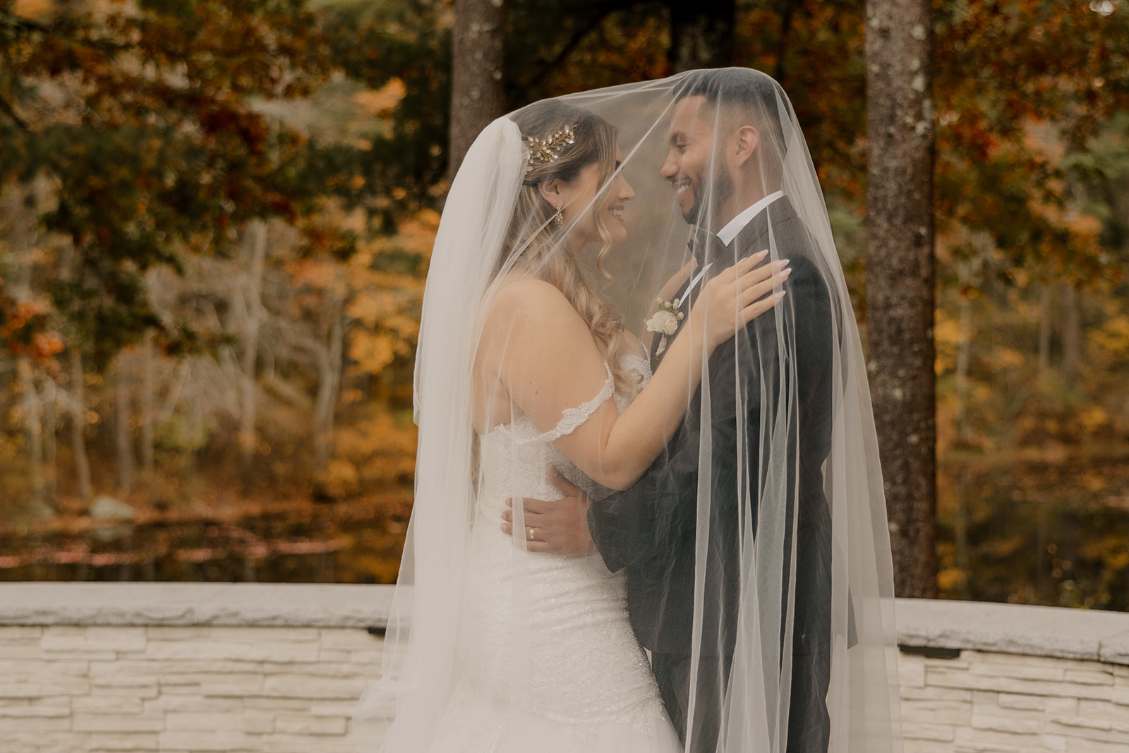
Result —
<instances>
[{"instance_id":1,"label":"dark pond water behind the wall, on both sides of the couple","mask_svg":"<svg viewBox=\"0 0 1129 753\"><path fill-rule=\"evenodd\" d=\"M1129 611L1127 464L942 470L940 595ZM1120 491L1119 491L1120 490ZM0 580L395 583L410 492L253 514L0 531Z\"/></svg>"}]
</instances>

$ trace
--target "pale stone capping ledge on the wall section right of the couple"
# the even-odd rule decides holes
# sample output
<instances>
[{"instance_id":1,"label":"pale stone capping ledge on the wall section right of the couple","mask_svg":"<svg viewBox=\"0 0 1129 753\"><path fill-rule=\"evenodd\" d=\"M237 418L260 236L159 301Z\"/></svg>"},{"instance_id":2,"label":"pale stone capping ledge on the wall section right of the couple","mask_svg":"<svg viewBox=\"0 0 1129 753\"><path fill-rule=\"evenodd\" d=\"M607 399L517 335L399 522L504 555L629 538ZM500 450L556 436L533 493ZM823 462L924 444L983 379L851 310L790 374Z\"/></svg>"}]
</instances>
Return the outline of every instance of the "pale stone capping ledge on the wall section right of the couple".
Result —
<instances>
[{"instance_id":1,"label":"pale stone capping ledge on the wall section right of the couple","mask_svg":"<svg viewBox=\"0 0 1129 753\"><path fill-rule=\"evenodd\" d=\"M1129 665L1129 613L899 598L898 643Z\"/></svg>"}]
</instances>

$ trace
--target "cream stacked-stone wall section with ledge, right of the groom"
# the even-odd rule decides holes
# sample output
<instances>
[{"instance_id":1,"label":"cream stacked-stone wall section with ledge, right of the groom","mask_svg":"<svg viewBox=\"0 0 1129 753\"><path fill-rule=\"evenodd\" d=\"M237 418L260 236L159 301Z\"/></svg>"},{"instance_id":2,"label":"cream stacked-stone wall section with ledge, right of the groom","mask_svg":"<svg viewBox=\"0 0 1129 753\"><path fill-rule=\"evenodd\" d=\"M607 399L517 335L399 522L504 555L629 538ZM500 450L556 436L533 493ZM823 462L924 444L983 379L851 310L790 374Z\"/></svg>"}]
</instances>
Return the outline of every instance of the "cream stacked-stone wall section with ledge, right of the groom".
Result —
<instances>
[{"instance_id":1,"label":"cream stacked-stone wall section with ledge, right of the groom","mask_svg":"<svg viewBox=\"0 0 1129 753\"><path fill-rule=\"evenodd\" d=\"M1129 614L900 599L907 753L1129 752Z\"/></svg>"}]
</instances>

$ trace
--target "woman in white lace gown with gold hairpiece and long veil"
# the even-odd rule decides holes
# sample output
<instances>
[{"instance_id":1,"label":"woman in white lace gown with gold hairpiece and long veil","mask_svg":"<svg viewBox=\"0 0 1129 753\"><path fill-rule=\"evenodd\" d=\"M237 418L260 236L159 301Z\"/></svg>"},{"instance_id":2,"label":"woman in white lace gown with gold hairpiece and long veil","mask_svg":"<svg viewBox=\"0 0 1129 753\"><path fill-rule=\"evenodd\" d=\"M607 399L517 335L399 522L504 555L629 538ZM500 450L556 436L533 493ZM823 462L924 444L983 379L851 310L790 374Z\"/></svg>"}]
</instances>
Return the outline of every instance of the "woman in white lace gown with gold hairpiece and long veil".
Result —
<instances>
[{"instance_id":1,"label":"woman in white lace gown with gold hairpiece and long veil","mask_svg":"<svg viewBox=\"0 0 1129 753\"><path fill-rule=\"evenodd\" d=\"M664 474L668 443L685 417L703 417L703 427L739 424L739 414L711 417L711 368L715 376L721 373L715 351L734 351L726 343L746 326L762 321L781 326L782 316L763 316L787 309L791 299L785 297L788 260L776 253L778 239L769 233L763 253L736 253L707 219L735 201L727 165L739 158L739 149L730 154L732 148L742 145L709 139L694 151L693 133L672 119L682 80L570 95L501 117L475 140L452 184L430 260L417 352L415 504L388 619L384 676L365 692L355 718L364 753L698 750L664 709L648 653L636 637L639 627L629 616L624 573L609 571L592 548L579 555L546 552L535 522L526 524L523 505L516 504L560 499L558 487L566 485L581 489L586 499L610 498L645 473ZM798 125L787 132L797 135ZM746 157L749 146L746 139ZM675 152L685 169L664 185L659 168ZM824 263L839 270L806 149L800 142L790 154L798 161L785 166L781 190L814 228ZM833 283L840 291L833 300L849 301L841 271ZM824 467L835 534L847 529L842 516L851 515L851 534L861 540L874 535L867 526L881 526L867 517L875 507L874 476L867 475L875 464L866 454L873 438L861 430L848 434L864 426L852 402L861 400L863 369L854 319L841 318L850 315L849 303L844 306L832 317L841 333L833 383L850 400L835 399L835 439ZM774 384L793 391L785 401L791 405L787 349L794 345L778 340L782 350L753 356L760 358L754 366L777 369ZM749 352L744 345L737 350ZM709 434L702 432L694 452L697 473L707 480L711 467L721 467L711 465ZM863 454L851 455L854 446ZM728 736L725 750L732 751L784 751L785 735L772 725L781 718L780 698L787 718L788 689L779 682L789 675L791 656L781 641L782 630L791 630L791 607L784 605L781 623L780 599L781 592L787 599L789 584L781 584L779 567L764 563L787 559L777 542L797 534L769 505L773 483L788 473L781 461L773 462L778 465L738 469L741 483L756 485L767 501L752 522L742 514L743 527L734 534L741 542L742 594L734 618L736 658L725 668L732 692L718 698L725 697L723 716L742 718L750 732ZM832 496L837 484L850 488ZM693 571L676 573L697 594L688 618L697 648L688 666L695 672L701 665L703 673L716 664L701 648L716 642L709 638L716 622L710 583L717 577L709 485L697 497L691 490L689 508L674 511L677 525L641 515L651 529L623 532L651 540L689 535L693 550L694 520L704 526L697 534ZM524 535L510 537L499 526L509 501L513 531ZM859 510L866 515L856 515ZM756 527L755 542L750 526ZM889 680L885 602L870 599L885 584L856 581L856 570L870 577L865 567L848 572L852 558L865 562L874 554L873 541L832 539L835 572L850 577L835 575L831 589L840 642L826 704L833 729L861 741L851 750L878 750L869 743L890 736L889 703L881 693L864 691L884 690ZM657 579L674 577L663 572L674 566L651 562ZM875 577L883 577L881 568ZM690 682L691 708L693 688ZM881 724L875 732L843 721L855 715L855 703L874 707L879 695L886 703L878 715L885 733ZM738 737L764 744L735 742Z\"/></svg>"}]
</instances>

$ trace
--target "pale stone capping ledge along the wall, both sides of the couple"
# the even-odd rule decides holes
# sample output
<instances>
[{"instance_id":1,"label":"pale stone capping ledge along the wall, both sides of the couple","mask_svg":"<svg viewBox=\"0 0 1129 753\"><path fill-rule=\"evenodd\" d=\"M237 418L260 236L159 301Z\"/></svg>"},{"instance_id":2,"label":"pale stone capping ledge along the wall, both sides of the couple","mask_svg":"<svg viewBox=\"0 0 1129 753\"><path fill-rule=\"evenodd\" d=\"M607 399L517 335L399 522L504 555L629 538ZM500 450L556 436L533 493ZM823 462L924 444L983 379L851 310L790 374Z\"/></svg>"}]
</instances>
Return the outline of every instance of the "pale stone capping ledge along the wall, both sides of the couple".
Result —
<instances>
[{"instance_id":1,"label":"pale stone capping ledge along the wall, both sides of the couple","mask_svg":"<svg viewBox=\"0 0 1129 753\"><path fill-rule=\"evenodd\" d=\"M0 584L0 625L384 627L392 586ZM898 642L1129 665L1129 614L900 598Z\"/></svg>"}]
</instances>

